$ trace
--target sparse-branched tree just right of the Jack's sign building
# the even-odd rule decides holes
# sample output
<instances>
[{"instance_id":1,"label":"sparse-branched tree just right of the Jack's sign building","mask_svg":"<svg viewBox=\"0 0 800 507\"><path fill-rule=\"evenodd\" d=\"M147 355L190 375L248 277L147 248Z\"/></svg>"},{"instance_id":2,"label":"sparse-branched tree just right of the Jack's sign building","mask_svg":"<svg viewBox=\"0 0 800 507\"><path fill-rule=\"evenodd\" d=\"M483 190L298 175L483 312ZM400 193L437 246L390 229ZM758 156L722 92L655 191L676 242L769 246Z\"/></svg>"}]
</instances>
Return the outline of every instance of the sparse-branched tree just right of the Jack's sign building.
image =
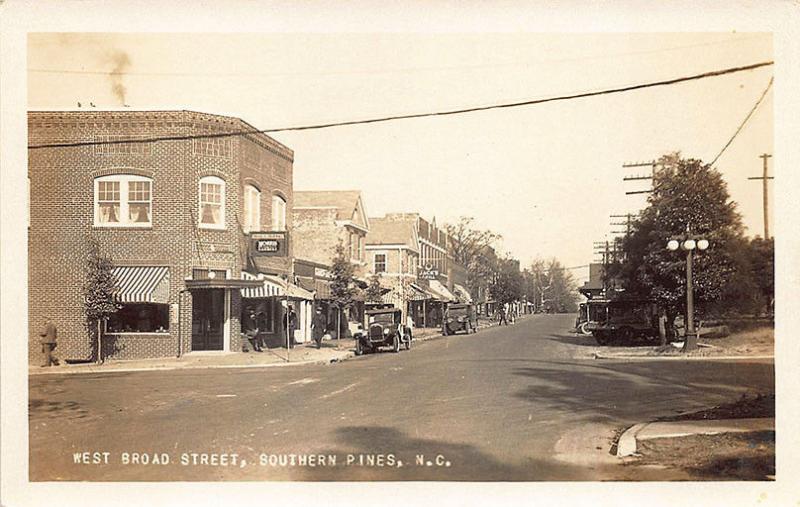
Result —
<instances>
[{"instance_id":1,"label":"sparse-branched tree just right of the Jack's sign building","mask_svg":"<svg viewBox=\"0 0 800 507\"><path fill-rule=\"evenodd\" d=\"M497 255L492 248L501 236L490 230L473 226L472 217L461 217L455 224L445 225L450 238L450 255L467 270L467 288L473 296L479 294L497 269Z\"/></svg>"}]
</instances>

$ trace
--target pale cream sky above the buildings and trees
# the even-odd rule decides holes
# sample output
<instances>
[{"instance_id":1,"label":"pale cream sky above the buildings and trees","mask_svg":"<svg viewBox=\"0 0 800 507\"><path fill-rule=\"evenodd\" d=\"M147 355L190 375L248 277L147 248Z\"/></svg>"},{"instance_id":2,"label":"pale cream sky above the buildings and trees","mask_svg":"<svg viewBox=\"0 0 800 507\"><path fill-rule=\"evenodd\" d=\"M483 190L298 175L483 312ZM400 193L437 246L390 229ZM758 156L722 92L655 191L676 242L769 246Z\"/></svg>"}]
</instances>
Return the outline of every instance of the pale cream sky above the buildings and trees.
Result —
<instances>
[{"instance_id":1,"label":"pale cream sky above the buildings and trees","mask_svg":"<svg viewBox=\"0 0 800 507\"><path fill-rule=\"evenodd\" d=\"M259 129L516 102L773 59L770 34L733 32L37 33L27 49L31 110L78 102L188 109ZM622 165L672 151L710 162L771 76L765 67L567 102L271 135L295 152L295 189L361 190L370 216L474 217L523 266L537 257L582 266L594 259L593 242L620 229L609 215L645 204L625 192L647 183L622 178L648 169ZM763 235L763 215L761 183L747 178L761 175L759 155L772 149L770 91L716 164L748 235ZM588 270L573 274L585 280Z\"/></svg>"}]
</instances>

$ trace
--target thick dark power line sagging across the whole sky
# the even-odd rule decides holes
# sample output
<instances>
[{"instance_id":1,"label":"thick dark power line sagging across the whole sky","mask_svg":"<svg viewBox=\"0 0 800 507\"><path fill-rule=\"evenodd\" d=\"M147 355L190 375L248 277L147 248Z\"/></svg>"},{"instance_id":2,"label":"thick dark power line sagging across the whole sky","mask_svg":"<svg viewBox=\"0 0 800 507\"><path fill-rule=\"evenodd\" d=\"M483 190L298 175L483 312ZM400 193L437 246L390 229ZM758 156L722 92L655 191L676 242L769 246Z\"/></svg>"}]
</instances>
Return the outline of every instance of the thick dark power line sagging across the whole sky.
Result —
<instances>
[{"instance_id":1,"label":"thick dark power line sagging across the whole sky","mask_svg":"<svg viewBox=\"0 0 800 507\"><path fill-rule=\"evenodd\" d=\"M465 113L474 113L478 111L488 111L493 109L508 109L512 107L521 107L521 106L531 106L536 104L544 104L547 102L559 102L559 101L566 101L566 100L574 100L580 98L587 98L587 97L596 97L600 95L610 95L615 93L622 93L622 92L629 92L634 90L641 90L645 88L653 88L657 86L668 86L678 83L684 83L687 81L696 81L699 79L706 79L709 77L716 77L722 76L726 74L733 74L736 72L744 72L748 70L754 70L761 67L767 67L773 65L774 62L760 62L755 63L752 65L745 65L743 67L730 67L727 69L722 70L715 70L710 72L703 72L702 74L695 74L691 76L684 76L678 77L673 79L667 79L662 81L653 81L649 83L642 83L618 88L608 88L605 90L593 91L593 92L584 92L584 93L576 93L571 95L561 95L556 97L549 97L544 99L533 99L533 100L526 100L522 102L510 102L505 104L495 104L489 106L478 106L478 107L470 107L464 109L453 109L449 111L438 111L438 112L430 112L430 113L416 113L416 114L405 114L405 115L397 115L397 116L383 116L378 118L370 118L366 120L352 120L352 121L343 121L343 122L335 122L335 123L320 123L316 125L305 125L299 127L282 127L282 128L272 128L272 129L264 129L264 130L239 130L233 132L223 132L223 133L216 133L216 134L193 134L193 135L181 135L181 136L160 136L160 137L151 137L151 138L139 138L139 139L122 139L122 140L107 140L107 141L80 141L80 142L70 142L70 143L50 143L50 144L39 144L39 145L28 145L28 149L35 150L35 149L42 149L42 148L67 148L67 147L78 147L78 146L94 146L94 145L104 145L104 144L124 144L124 143L151 143L157 141L185 141L185 140L192 140L192 139L212 139L212 138L220 138L220 137L235 137L235 136L243 136L243 135L250 135L250 134L268 134L274 132L288 132L288 131L302 131L302 130L318 130L318 129L325 129L325 128L332 128L332 127L344 127L349 125L365 125L370 123L382 123L388 121L395 121L395 120L408 120L412 118L426 118L426 117L433 117L433 116L449 116L449 115L456 115L456 114L465 114Z\"/></svg>"}]
</instances>

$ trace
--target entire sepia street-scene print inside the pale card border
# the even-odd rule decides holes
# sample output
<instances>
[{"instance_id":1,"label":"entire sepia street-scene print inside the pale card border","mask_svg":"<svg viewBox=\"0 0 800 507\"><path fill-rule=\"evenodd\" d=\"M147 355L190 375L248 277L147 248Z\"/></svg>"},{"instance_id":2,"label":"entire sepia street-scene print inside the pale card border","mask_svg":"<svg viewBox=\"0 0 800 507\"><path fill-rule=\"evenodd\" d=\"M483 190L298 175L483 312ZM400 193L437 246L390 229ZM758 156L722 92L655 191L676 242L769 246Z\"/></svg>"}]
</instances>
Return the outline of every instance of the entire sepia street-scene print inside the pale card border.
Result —
<instances>
[{"instance_id":1,"label":"entire sepia street-scene print inside the pale card border","mask_svg":"<svg viewBox=\"0 0 800 507\"><path fill-rule=\"evenodd\" d=\"M23 34L31 485L776 481L769 29L81 26Z\"/></svg>"}]
</instances>

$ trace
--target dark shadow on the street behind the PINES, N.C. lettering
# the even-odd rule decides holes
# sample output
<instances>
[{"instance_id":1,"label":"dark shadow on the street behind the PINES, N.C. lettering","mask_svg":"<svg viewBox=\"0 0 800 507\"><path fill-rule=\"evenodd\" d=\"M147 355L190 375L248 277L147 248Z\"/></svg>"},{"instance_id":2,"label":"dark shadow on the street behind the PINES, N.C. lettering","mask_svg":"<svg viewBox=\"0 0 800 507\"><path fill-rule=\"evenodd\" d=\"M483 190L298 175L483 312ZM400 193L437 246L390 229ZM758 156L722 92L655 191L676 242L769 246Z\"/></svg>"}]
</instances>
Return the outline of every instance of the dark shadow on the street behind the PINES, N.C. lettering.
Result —
<instances>
[{"instance_id":1,"label":"dark shadow on the street behind the PINES, N.C. lettering","mask_svg":"<svg viewBox=\"0 0 800 507\"><path fill-rule=\"evenodd\" d=\"M337 448L319 452L335 455L336 466L296 468L291 478L302 481L474 482L576 480L580 477L579 470L568 464L546 463L538 458L528 458L524 463L506 463L473 445L412 437L386 426L339 428L336 440ZM383 456L383 466L376 464L378 456ZM421 457L419 462L418 457ZM389 462L391 464L387 464Z\"/></svg>"}]
</instances>

